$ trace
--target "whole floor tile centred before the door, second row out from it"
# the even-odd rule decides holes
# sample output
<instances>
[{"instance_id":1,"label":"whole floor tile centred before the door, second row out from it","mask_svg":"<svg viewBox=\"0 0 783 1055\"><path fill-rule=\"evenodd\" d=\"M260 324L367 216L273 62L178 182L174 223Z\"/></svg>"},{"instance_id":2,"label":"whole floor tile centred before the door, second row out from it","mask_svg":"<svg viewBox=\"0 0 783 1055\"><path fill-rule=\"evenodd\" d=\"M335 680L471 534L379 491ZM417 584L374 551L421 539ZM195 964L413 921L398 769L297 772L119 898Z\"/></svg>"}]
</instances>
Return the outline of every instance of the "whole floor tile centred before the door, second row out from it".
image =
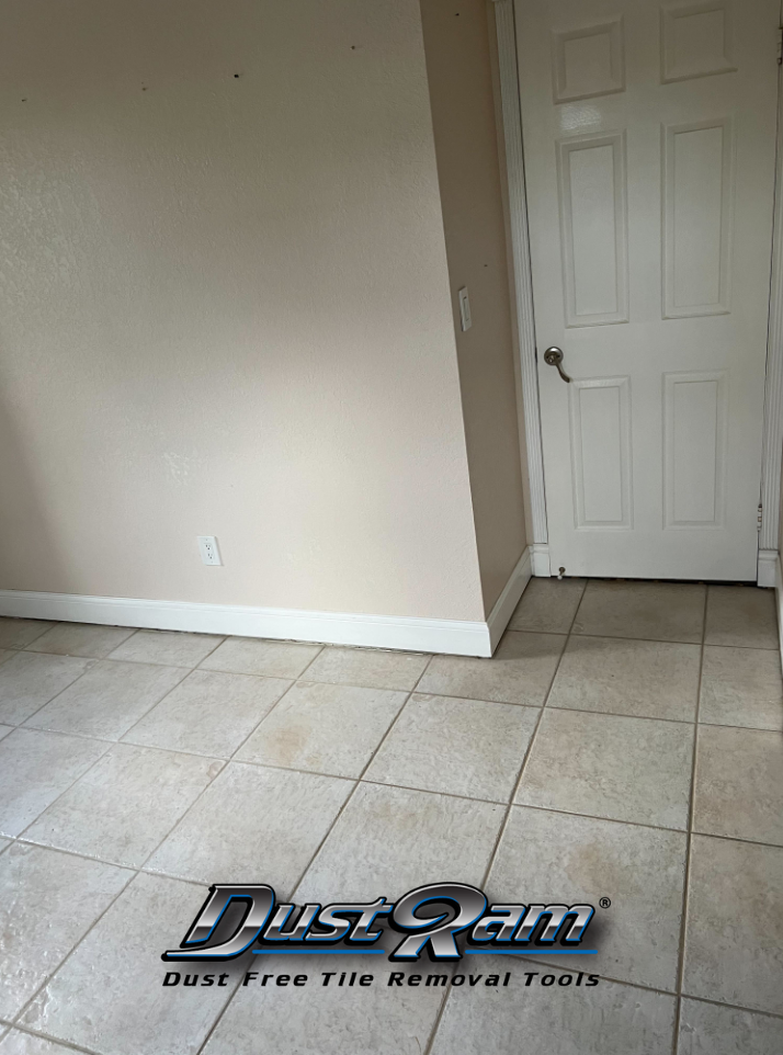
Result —
<instances>
[{"instance_id":1,"label":"whole floor tile centred before the door, second row out from it","mask_svg":"<svg viewBox=\"0 0 783 1055\"><path fill-rule=\"evenodd\" d=\"M693 722L699 645L571 637L548 706Z\"/></svg>"}]
</instances>

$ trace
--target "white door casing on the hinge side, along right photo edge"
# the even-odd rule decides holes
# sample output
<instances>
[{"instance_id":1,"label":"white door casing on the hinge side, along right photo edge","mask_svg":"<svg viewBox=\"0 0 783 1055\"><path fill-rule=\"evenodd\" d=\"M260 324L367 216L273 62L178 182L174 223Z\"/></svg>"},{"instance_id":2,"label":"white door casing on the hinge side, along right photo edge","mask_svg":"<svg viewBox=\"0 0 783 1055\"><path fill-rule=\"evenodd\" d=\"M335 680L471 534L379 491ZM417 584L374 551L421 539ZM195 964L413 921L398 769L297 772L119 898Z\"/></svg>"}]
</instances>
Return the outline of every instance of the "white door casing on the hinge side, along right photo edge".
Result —
<instances>
[{"instance_id":1,"label":"white door casing on the hinge side, along right photo edge","mask_svg":"<svg viewBox=\"0 0 783 1055\"><path fill-rule=\"evenodd\" d=\"M778 93L778 160L772 228L772 283L764 386L764 445L761 455L761 531L759 549L776 551L780 533L781 456L783 455L783 79ZM760 556L760 554L759 554ZM759 561L759 570L761 561ZM759 586L764 583L759 580Z\"/></svg>"}]
</instances>

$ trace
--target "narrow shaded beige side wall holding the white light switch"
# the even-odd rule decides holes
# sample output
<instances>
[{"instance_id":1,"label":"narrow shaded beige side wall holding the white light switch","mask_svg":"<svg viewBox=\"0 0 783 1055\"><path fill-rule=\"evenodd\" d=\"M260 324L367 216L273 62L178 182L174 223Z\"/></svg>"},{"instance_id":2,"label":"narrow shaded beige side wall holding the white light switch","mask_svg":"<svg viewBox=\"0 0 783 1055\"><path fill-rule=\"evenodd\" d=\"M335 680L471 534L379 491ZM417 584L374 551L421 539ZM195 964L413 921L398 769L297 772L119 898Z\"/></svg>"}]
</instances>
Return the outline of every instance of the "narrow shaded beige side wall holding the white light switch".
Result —
<instances>
[{"instance_id":1,"label":"narrow shaded beige side wall holding the white light switch","mask_svg":"<svg viewBox=\"0 0 783 1055\"><path fill-rule=\"evenodd\" d=\"M526 545L518 378L487 0L421 0L481 587L487 613ZM459 329L467 286L472 328Z\"/></svg>"}]
</instances>

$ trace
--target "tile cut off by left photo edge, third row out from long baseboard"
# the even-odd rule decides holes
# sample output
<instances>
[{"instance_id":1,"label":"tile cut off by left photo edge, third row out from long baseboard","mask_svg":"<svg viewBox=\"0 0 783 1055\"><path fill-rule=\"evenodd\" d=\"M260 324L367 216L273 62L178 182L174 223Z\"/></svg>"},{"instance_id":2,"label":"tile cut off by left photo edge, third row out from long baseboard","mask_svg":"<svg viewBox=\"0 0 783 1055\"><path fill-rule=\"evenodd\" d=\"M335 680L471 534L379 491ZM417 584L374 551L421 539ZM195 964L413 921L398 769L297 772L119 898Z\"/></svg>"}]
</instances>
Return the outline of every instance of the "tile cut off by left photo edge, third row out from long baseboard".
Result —
<instances>
[{"instance_id":1,"label":"tile cut off by left photo edge, third row out from long baseboard","mask_svg":"<svg viewBox=\"0 0 783 1055\"><path fill-rule=\"evenodd\" d=\"M14 729L0 740L0 831L18 836L107 747L37 729Z\"/></svg>"}]
</instances>

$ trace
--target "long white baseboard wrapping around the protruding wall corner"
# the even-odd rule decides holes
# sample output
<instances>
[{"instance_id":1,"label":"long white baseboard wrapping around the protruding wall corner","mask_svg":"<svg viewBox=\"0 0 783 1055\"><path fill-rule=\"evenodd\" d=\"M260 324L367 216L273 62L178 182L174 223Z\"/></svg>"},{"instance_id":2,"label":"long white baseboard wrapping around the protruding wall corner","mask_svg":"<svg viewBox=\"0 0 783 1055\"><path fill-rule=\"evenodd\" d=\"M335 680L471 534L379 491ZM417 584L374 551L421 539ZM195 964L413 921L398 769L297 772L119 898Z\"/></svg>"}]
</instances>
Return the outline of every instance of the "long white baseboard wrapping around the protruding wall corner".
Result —
<instances>
[{"instance_id":1,"label":"long white baseboard wrapping around the protruding wall corner","mask_svg":"<svg viewBox=\"0 0 783 1055\"><path fill-rule=\"evenodd\" d=\"M80 597L22 590L0 590L0 615L327 645L363 645L454 656L491 656L529 579L530 555L525 551L487 622L297 612L293 609L241 604Z\"/></svg>"}]
</instances>

